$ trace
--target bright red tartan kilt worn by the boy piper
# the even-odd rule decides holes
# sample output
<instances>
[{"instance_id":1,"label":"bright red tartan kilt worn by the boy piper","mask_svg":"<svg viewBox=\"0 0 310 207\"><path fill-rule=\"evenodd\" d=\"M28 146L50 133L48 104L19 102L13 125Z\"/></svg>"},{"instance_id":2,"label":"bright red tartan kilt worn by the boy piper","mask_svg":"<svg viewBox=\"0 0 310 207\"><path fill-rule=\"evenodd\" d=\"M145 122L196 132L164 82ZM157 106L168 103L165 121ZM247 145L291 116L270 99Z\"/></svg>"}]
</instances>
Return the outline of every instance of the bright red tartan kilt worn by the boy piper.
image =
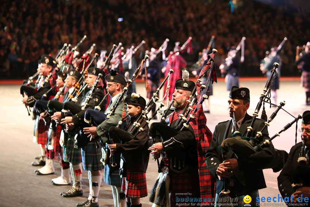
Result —
<instances>
[{"instance_id":1,"label":"bright red tartan kilt worn by the boy piper","mask_svg":"<svg viewBox=\"0 0 310 207\"><path fill-rule=\"evenodd\" d=\"M122 193L125 193L126 198L143 198L148 196L146 187L145 173L127 168L126 178L123 178Z\"/></svg>"}]
</instances>

